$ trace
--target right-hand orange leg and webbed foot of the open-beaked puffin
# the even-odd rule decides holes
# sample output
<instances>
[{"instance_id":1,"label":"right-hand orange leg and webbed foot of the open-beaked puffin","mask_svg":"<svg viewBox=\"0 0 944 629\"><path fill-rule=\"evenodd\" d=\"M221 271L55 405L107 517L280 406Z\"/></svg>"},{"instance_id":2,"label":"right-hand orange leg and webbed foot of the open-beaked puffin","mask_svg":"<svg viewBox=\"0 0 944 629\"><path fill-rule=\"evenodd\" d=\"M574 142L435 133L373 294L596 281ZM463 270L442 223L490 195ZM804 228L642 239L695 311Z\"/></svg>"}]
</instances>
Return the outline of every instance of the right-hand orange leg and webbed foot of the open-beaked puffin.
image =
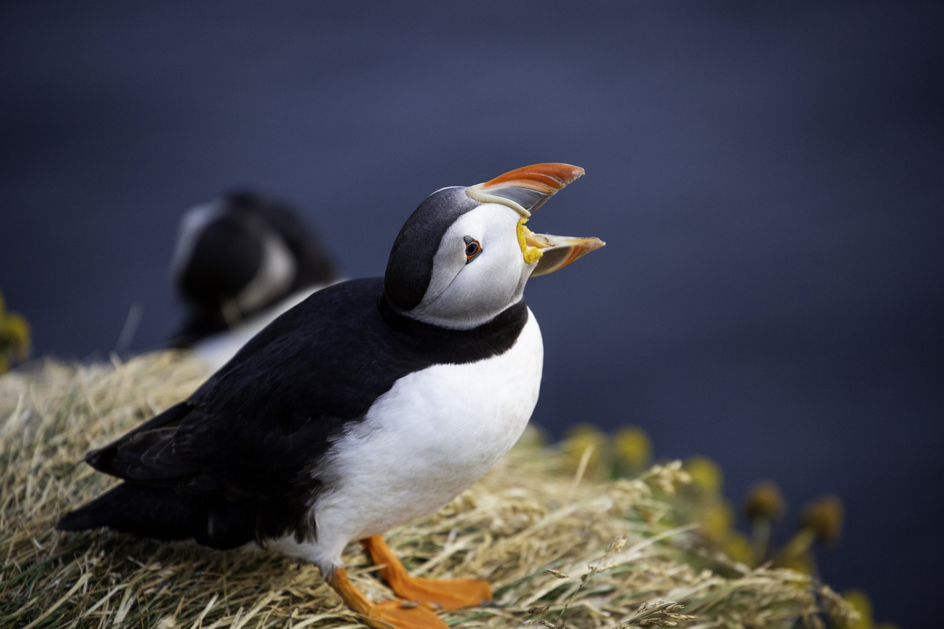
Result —
<instances>
[{"instance_id":1,"label":"right-hand orange leg and webbed foot of the open-beaked puffin","mask_svg":"<svg viewBox=\"0 0 944 629\"><path fill-rule=\"evenodd\" d=\"M381 536L367 537L361 543L375 564L386 564L385 568L380 569L380 577L402 599L452 610L481 604L492 598L492 588L485 581L410 576Z\"/></svg>"}]
</instances>

